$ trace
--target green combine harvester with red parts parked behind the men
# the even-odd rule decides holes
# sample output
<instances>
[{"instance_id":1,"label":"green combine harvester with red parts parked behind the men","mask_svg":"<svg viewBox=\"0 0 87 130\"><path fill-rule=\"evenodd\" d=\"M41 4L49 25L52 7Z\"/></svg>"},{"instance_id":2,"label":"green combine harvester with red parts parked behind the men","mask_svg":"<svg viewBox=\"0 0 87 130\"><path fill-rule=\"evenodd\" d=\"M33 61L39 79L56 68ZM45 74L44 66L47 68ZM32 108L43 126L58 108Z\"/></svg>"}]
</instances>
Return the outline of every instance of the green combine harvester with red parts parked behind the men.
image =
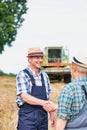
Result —
<instances>
[{"instance_id":1,"label":"green combine harvester with red parts parked behind the men","mask_svg":"<svg viewBox=\"0 0 87 130\"><path fill-rule=\"evenodd\" d=\"M45 47L42 69L49 75L51 82L71 81L71 63L69 62L69 50L60 47Z\"/></svg>"}]
</instances>

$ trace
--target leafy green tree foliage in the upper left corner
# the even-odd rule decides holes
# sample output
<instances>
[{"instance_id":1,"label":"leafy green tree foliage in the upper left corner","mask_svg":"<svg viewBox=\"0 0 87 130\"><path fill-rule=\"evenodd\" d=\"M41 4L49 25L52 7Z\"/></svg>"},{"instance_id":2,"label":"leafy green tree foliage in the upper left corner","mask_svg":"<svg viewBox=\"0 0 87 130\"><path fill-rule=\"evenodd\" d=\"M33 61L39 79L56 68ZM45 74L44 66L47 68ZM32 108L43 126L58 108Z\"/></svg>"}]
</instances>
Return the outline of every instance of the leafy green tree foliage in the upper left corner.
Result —
<instances>
[{"instance_id":1,"label":"leafy green tree foliage in the upper left corner","mask_svg":"<svg viewBox=\"0 0 87 130\"><path fill-rule=\"evenodd\" d=\"M4 46L12 46L17 30L21 27L27 13L27 0L0 0L0 53Z\"/></svg>"}]
</instances>

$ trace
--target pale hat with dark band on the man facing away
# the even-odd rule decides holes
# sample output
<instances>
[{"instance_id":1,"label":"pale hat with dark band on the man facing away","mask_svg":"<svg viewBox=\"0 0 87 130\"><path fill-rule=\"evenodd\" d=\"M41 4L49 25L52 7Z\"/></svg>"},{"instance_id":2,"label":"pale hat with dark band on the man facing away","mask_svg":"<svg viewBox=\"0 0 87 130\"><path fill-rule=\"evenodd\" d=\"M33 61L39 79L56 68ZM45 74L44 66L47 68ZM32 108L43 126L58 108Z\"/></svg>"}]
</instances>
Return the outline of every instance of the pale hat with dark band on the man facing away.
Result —
<instances>
[{"instance_id":1,"label":"pale hat with dark band on the man facing away","mask_svg":"<svg viewBox=\"0 0 87 130\"><path fill-rule=\"evenodd\" d=\"M84 50L80 51L76 56L73 57L72 62L83 68L87 68L87 52L84 53Z\"/></svg>"}]
</instances>

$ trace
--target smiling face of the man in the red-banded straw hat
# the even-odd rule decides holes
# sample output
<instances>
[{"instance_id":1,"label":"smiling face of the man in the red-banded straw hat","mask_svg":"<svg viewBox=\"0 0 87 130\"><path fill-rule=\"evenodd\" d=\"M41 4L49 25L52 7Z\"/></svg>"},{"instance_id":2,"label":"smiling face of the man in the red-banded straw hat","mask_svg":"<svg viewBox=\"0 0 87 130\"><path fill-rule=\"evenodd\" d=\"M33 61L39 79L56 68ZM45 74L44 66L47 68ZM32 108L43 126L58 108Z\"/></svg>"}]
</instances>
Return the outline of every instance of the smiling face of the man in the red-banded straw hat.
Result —
<instances>
[{"instance_id":1,"label":"smiling face of the man in the red-banded straw hat","mask_svg":"<svg viewBox=\"0 0 87 130\"><path fill-rule=\"evenodd\" d=\"M34 69L40 69L43 63L43 56L29 57L30 66Z\"/></svg>"}]
</instances>

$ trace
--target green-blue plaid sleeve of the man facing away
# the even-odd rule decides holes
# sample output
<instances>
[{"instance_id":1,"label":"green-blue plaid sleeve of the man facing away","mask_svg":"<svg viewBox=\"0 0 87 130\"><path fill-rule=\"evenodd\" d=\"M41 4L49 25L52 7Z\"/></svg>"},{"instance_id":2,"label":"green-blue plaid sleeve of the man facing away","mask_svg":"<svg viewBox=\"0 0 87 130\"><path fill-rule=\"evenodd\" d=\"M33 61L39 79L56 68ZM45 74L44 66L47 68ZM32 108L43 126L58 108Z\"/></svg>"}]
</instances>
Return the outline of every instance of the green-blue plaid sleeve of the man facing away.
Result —
<instances>
[{"instance_id":1,"label":"green-blue plaid sleeve of the man facing away","mask_svg":"<svg viewBox=\"0 0 87 130\"><path fill-rule=\"evenodd\" d=\"M69 120L72 116L71 113L71 104L72 104L72 94L69 91L69 88L64 88L58 97L58 110L57 117L65 120Z\"/></svg>"}]
</instances>

